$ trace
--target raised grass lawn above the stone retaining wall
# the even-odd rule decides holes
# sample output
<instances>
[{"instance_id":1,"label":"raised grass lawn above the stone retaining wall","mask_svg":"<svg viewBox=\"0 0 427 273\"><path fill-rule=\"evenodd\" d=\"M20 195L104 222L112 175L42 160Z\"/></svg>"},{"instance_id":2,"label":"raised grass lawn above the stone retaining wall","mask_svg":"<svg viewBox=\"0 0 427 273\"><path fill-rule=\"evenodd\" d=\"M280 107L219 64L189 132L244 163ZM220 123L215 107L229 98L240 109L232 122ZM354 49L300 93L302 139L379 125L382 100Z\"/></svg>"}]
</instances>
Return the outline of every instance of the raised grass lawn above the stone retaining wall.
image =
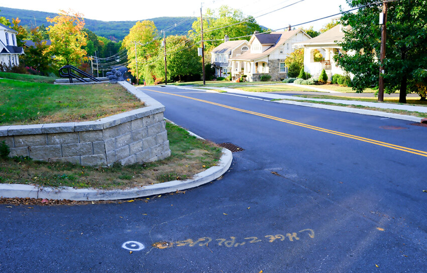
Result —
<instances>
[{"instance_id":1,"label":"raised grass lawn above the stone retaining wall","mask_svg":"<svg viewBox=\"0 0 427 273\"><path fill-rule=\"evenodd\" d=\"M0 125L88 121L143 106L118 84L54 85L0 79Z\"/></svg>"}]
</instances>

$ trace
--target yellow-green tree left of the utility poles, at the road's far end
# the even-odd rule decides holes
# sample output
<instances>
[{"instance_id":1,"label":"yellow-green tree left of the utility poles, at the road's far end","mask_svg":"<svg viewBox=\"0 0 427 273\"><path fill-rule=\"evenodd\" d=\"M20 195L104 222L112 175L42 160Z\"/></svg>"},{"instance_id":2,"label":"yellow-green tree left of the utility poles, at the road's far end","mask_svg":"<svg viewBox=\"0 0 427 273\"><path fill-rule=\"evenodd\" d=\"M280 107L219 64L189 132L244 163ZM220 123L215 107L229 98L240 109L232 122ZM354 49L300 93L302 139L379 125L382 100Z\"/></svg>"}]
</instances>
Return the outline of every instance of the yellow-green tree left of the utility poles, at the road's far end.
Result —
<instances>
[{"instance_id":1,"label":"yellow-green tree left of the utility poles, at the road's far end","mask_svg":"<svg viewBox=\"0 0 427 273\"><path fill-rule=\"evenodd\" d=\"M159 41L153 21L138 21L123 39L122 47L128 50L128 68L132 75L150 82L154 78L155 61L150 59L157 54ZM138 75L136 74L135 50L138 56ZM157 55L156 55L157 56Z\"/></svg>"}]
</instances>

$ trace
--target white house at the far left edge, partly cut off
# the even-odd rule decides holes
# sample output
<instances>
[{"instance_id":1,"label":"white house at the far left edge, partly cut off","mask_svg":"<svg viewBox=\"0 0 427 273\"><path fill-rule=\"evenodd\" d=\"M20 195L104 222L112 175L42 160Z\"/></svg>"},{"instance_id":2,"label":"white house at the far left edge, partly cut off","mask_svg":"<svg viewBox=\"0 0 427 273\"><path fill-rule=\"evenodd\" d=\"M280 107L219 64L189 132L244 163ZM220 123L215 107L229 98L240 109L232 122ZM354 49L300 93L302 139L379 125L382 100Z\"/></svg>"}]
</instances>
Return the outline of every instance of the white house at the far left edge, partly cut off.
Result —
<instances>
[{"instance_id":1,"label":"white house at the far left edge, partly cut off","mask_svg":"<svg viewBox=\"0 0 427 273\"><path fill-rule=\"evenodd\" d=\"M0 24L0 63L8 67L19 65L19 55L24 54L22 47L17 46L18 32Z\"/></svg>"}]
</instances>

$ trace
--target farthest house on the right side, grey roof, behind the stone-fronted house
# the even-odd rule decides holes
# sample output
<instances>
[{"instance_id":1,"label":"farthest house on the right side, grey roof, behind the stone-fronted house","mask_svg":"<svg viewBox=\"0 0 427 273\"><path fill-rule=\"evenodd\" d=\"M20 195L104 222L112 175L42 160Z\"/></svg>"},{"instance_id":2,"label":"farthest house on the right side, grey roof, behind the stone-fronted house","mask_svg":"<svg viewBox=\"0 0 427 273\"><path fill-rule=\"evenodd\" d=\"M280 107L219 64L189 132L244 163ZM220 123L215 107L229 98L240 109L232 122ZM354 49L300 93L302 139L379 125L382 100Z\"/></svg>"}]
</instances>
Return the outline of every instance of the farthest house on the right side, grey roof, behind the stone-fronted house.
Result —
<instances>
[{"instance_id":1,"label":"farthest house on the right side, grey roof, behind the stone-fronted house","mask_svg":"<svg viewBox=\"0 0 427 273\"><path fill-rule=\"evenodd\" d=\"M230 41L229 37L226 35L224 37L224 43L210 52L210 63L213 69L215 69L215 76L227 77L231 72L230 58L240 56L248 50L248 41Z\"/></svg>"}]
</instances>

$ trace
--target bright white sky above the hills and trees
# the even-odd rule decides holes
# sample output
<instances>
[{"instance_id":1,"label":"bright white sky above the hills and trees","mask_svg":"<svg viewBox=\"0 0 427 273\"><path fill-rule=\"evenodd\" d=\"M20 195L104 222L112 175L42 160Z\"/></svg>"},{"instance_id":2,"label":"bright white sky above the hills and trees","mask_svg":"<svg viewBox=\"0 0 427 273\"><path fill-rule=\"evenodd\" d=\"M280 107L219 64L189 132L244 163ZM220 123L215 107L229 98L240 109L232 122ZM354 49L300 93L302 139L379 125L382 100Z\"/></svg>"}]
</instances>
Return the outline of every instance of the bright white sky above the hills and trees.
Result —
<instances>
[{"instance_id":1,"label":"bright white sky above the hills and trees","mask_svg":"<svg viewBox=\"0 0 427 273\"><path fill-rule=\"evenodd\" d=\"M291 4L294 5L283 8ZM72 9L83 14L84 18L102 21L136 21L164 16L199 17L200 5L202 5L203 13L205 13L207 8L215 10L222 5L228 5L234 9L241 10L245 15L255 17L258 24L272 30L285 28L289 24L297 25L314 19L337 14L340 12L340 5L345 11L350 9L345 0L211 0L204 3L201 3L198 0L127 0L124 4L117 1L101 2L90 0L0 0L0 7L52 13L57 13L59 10ZM277 9L280 10L261 16ZM314 30L318 30L330 21L331 19L325 19L322 21L308 23L301 27L308 28L309 26L313 26Z\"/></svg>"}]
</instances>

